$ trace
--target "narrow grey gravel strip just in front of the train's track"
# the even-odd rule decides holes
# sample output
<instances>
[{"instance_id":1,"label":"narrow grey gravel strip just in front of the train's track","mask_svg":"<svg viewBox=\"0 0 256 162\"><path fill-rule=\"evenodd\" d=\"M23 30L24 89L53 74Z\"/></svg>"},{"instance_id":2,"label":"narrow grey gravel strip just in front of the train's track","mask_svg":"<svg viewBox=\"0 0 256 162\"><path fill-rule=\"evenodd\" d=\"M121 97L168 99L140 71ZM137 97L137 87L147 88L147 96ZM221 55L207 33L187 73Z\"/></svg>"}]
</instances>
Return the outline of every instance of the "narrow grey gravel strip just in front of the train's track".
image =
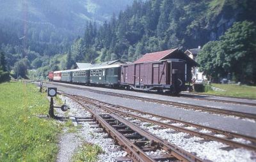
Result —
<instances>
[{"instance_id":1,"label":"narrow grey gravel strip just in front of the train's track","mask_svg":"<svg viewBox=\"0 0 256 162\"><path fill-rule=\"evenodd\" d=\"M46 85L52 85L52 84L46 84ZM63 83L54 83L54 86L57 85L70 85L70 84L63 84ZM82 85L72 85L76 87L80 87L81 89L84 88ZM118 92L121 94L129 94L132 96L140 96L144 98L153 98L153 99L162 99L164 101L175 101L178 103L188 103L198 106L205 106L205 107L214 107L214 108L221 108L221 109L227 109L227 110L234 110L238 112L246 112L246 113L252 113L256 114L256 107L249 106L249 105L237 105L237 104L230 104L230 103L219 103L216 101L205 101L200 99L193 99L193 98L179 98L179 97L172 97L172 96L164 96L159 94L147 94L145 92L133 92L133 91L124 91L124 90L118 90L118 89L106 89L101 87L86 87L90 89L96 89L100 91L108 91L108 92ZM246 99L245 99L246 100ZM250 100L253 101L253 100ZM254 101L253 101L254 102ZM255 100L256 103L256 100Z\"/></svg>"}]
</instances>

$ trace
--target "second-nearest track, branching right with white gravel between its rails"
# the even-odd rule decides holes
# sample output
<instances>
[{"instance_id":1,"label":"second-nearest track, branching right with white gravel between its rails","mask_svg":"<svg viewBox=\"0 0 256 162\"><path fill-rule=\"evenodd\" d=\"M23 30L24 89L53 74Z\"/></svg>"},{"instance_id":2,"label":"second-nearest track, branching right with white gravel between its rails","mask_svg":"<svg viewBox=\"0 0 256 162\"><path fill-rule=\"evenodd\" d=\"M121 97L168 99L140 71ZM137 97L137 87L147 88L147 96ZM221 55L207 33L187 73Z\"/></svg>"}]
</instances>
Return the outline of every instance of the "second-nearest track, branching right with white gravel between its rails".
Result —
<instances>
[{"instance_id":1,"label":"second-nearest track, branching right with white gravel between its rails","mask_svg":"<svg viewBox=\"0 0 256 162\"><path fill-rule=\"evenodd\" d=\"M220 129L211 128L208 126L202 126L198 124L193 124L191 122L184 122L177 119L172 119L168 117L162 117L155 114L149 114L145 112L141 112L138 110L134 110L132 108L120 107L117 105L111 105L109 103L104 103L102 101L98 101L96 99L81 97L81 96L70 96L65 94L68 98L79 101L80 103L90 103L90 105L95 105L95 107L100 107L104 109L108 113L115 112L118 115L132 117L134 119L139 119L143 122L150 122L153 124L157 124L162 128L171 128L175 131L180 131L184 133L188 133L192 136L199 136L204 138L205 140L214 140L221 142L223 144L230 145L230 147L243 147L244 149L249 149L252 151L256 151L256 138L246 135L240 135L237 133L232 133L229 131L223 131ZM146 117L145 117L146 116ZM177 126L179 123L179 126ZM180 124L183 124L180 126ZM194 127L196 129L188 129L189 127ZM202 130L207 130L207 133L202 132ZM216 136L221 135L221 136ZM246 143L237 142L236 139L243 139Z\"/></svg>"}]
</instances>

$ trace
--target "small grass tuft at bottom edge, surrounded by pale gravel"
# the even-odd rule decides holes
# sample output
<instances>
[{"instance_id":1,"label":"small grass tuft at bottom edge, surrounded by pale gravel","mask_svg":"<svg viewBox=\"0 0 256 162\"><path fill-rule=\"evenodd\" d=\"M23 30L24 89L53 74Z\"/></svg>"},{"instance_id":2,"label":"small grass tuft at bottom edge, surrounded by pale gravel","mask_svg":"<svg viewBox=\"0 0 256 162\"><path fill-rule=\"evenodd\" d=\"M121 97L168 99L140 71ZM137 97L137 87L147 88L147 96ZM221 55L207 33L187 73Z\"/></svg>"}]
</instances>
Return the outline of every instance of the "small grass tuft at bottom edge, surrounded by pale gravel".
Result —
<instances>
[{"instance_id":1,"label":"small grass tuft at bottom edge, surrounded by pale gravel","mask_svg":"<svg viewBox=\"0 0 256 162\"><path fill-rule=\"evenodd\" d=\"M85 143L78 149L76 154L74 154L73 161L94 162L97 161L97 156L102 152L102 148L99 145Z\"/></svg>"}]
</instances>

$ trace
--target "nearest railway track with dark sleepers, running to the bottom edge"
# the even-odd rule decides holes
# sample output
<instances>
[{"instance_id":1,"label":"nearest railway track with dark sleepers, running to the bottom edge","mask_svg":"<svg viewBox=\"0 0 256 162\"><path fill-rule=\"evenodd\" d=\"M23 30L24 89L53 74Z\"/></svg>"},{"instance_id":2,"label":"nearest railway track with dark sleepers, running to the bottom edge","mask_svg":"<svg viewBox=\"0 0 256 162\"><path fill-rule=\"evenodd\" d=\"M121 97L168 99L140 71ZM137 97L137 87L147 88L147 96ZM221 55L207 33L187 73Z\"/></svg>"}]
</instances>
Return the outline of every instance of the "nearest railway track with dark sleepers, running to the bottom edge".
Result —
<instances>
[{"instance_id":1,"label":"nearest railway track with dark sleepers, running to the bottom edge","mask_svg":"<svg viewBox=\"0 0 256 162\"><path fill-rule=\"evenodd\" d=\"M88 102L65 94L92 114L93 120L106 131L130 156L132 161L204 161L195 155L176 147L136 124L127 121L120 114L111 112L95 102ZM148 154L161 150L160 154Z\"/></svg>"}]
</instances>

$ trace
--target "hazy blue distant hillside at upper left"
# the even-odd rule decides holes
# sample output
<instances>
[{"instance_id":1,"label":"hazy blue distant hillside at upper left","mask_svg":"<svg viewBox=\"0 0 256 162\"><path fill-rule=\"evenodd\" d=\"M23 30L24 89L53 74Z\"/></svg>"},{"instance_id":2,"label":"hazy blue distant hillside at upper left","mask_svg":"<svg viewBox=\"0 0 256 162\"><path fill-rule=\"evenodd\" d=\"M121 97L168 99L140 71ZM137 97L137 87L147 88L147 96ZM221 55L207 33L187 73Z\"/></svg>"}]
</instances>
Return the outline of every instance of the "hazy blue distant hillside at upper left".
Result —
<instances>
[{"instance_id":1,"label":"hazy blue distant hillside at upper left","mask_svg":"<svg viewBox=\"0 0 256 162\"><path fill-rule=\"evenodd\" d=\"M0 0L0 44L16 45L26 36L25 48L44 55L67 51L83 35L88 21L97 25L124 10L132 0Z\"/></svg>"}]
</instances>

